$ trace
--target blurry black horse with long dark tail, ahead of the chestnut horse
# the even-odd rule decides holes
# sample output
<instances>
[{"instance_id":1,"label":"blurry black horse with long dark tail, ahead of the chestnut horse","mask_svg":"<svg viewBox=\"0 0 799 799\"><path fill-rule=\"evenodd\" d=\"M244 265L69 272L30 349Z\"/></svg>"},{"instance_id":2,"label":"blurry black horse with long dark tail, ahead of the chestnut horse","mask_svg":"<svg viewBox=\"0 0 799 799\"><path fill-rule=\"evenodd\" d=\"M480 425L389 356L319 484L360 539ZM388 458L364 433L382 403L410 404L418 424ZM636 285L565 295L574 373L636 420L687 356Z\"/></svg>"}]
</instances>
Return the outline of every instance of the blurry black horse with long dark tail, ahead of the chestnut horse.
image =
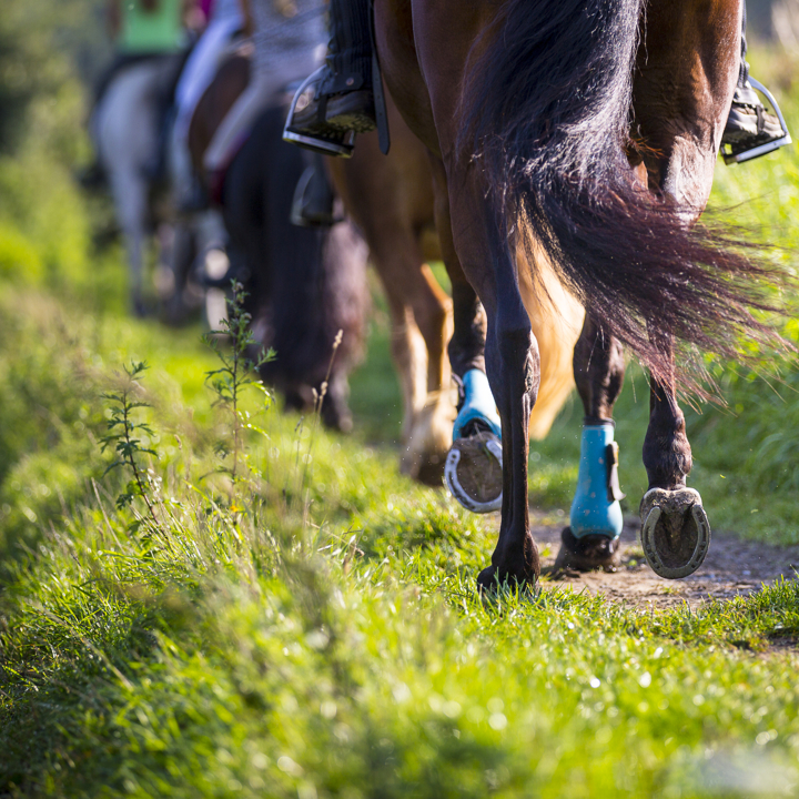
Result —
<instances>
[{"instance_id":1,"label":"blurry black horse with long dark tail, ahead of the chestnut horse","mask_svg":"<svg viewBox=\"0 0 799 799\"><path fill-rule=\"evenodd\" d=\"M246 51L231 54L198 103L189 148L199 174L213 133L247 84ZM231 274L245 285L245 310L259 346L276 358L261 375L286 406L313 409L352 428L347 375L363 350L368 306L366 247L347 223L331 229L291 223L294 189L307 163L282 140L287 98L265 109L227 166L219 203L229 234Z\"/></svg>"}]
</instances>

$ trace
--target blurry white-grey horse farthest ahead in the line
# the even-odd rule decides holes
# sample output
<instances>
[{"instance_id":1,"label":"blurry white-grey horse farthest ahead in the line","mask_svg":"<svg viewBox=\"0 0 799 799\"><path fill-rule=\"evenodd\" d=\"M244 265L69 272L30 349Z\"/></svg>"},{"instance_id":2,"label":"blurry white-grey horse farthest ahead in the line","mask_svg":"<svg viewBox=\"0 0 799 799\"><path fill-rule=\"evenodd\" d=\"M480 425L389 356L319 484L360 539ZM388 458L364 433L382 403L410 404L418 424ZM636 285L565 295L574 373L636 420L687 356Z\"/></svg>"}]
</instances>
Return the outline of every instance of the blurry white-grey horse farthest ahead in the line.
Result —
<instances>
[{"instance_id":1,"label":"blurry white-grey horse farthest ahead in the line","mask_svg":"<svg viewBox=\"0 0 799 799\"><path fill-rule=\"evenodd\" d=\"M108 176L124 237L133 311L144 315L144 253L154 222L163 218L159 192L163 110L174 90L183 54L136 59L111 77L92 114L98 156Z\"/></svg>"}]
</instances>

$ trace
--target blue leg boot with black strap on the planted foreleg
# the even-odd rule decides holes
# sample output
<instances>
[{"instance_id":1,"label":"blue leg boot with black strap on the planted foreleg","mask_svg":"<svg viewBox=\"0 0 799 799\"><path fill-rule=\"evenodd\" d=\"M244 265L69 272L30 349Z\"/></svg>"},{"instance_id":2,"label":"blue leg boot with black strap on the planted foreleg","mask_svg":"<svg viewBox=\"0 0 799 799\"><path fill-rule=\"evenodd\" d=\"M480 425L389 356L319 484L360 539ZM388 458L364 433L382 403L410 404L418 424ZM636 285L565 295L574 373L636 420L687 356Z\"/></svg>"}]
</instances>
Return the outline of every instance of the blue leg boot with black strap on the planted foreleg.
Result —
<instances>
[{"instance_id":1,"label":"blue leg boot with black strap on the planted foreleg","mask_svg":"<svg viewBox=\"0 0 799 799\"><path fill-rule=\"evenodd\" d=\"M583 426L577 492L572 503L570 526L575 538L604 535L616 539L624 519L618 486L618 445L611 421Z\"/></svg>"}]
</instances>

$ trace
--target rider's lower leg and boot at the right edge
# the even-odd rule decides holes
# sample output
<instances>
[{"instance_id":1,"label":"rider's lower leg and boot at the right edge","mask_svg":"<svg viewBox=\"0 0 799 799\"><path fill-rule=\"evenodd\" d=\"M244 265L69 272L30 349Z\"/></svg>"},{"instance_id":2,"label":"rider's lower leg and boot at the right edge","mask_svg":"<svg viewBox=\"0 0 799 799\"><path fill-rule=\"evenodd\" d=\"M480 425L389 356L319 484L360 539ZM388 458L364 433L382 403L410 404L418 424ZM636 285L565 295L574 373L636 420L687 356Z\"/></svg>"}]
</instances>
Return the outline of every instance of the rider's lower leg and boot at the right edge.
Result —
<instances>
[{"instance_id":1,"label":"rider's lower leg and boot at the right edge","mask_svg":"<svg viewBox=\"0 0 799 799\"><path fill-rule=\"evenodd\" d=\"M749 83L749 64L746 60L746 2L741 1L740 72L732 97L732 107L721 136L721 144L726 145L732 155L740 155L786 135L779 119L766 111L760 98ZM787 144L788 140L783 143ZM778 146L781 146L781 143ZM727 153L727 151L725 152Z\"/></svg>"}]
</instances>

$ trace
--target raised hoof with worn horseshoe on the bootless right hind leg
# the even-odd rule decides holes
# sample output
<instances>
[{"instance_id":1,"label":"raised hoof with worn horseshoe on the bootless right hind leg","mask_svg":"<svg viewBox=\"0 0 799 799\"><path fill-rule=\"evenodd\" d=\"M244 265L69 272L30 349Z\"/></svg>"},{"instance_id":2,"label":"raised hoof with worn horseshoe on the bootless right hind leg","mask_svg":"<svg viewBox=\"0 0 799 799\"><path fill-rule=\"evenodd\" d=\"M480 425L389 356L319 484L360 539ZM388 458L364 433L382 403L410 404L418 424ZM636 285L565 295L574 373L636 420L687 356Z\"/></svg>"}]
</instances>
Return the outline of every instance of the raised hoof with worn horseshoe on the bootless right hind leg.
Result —
<instances>
[{"instance_id":1,"label":"raised hoof with worn horseshoe on the bootless right hind leg","mask_svg":"<svg viewBox=\"0 0 799 799\"><path fill-rule=\"evenodd\" d=\"M710 525L694 488L650 488L641 499L641 546L655 574L678 579L701 566L710 546Z\"/></svg>"}]
</instances>

